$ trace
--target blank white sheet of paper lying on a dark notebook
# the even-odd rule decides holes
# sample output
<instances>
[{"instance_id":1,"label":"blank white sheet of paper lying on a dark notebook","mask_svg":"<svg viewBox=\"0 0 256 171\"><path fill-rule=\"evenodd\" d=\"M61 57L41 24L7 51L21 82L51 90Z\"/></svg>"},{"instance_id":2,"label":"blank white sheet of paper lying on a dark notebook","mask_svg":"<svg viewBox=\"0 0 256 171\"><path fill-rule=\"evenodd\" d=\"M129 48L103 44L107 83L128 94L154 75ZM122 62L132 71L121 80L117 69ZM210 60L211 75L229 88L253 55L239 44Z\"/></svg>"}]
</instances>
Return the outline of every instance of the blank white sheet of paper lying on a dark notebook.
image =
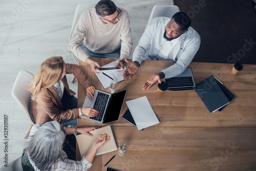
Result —
<instances>
[{"instance_id":1,"label":"blank white sheet of paper lying on a dark notebook","mask_svg":"<svg viewBox=\"0 0 256 171\"><path fill-rule=\"evenodd\" d=\"M159 120L157 119L157 116L146 96L125 102L133 116L138 130L159 123Z\"/></svg>"}]
</instances>

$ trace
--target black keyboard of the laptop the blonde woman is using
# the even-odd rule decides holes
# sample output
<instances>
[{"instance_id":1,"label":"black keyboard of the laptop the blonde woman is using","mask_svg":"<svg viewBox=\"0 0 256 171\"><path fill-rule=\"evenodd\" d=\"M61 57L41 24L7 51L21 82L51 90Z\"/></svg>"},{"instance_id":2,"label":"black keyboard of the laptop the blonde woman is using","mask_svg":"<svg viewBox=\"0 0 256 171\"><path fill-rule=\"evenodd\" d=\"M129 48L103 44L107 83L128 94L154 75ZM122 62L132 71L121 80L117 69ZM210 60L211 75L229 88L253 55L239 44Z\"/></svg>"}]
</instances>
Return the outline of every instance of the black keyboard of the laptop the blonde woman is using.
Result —
<instances>
[{"instance_id":1,"label":"black keyboard of the laptop the blonde woman is using","mask_svg":"<svg viewBox=\"0 0 256 171\"><path fill-rule=\"evenodd\" d=\"M108 94L98 92L93 109L96 109L97 111L99 111L99 114L95 117L90 117L90 119L101 121L108 98L109 98Z\"/></svg>"}]
</instances>

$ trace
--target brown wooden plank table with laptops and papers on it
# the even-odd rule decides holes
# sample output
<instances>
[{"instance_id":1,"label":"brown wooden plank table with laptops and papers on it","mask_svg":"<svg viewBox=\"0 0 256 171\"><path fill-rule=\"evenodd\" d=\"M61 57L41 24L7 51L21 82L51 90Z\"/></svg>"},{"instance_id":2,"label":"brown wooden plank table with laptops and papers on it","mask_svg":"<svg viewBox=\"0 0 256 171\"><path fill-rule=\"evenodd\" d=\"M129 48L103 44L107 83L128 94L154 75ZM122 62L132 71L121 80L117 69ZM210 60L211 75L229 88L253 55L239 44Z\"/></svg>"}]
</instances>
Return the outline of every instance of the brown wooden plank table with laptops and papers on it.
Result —
<instances>
[{"instance_id":1,"label":"brown wooden plank table with laptops and papers on it","mask_svg":"<svg viewBox=\"0 0 256 171\"><path fill-rule=\"evenodd\" d=\"M101 66L117 59L93 58ZM78 119L79 126L111 125L117 146L128 144L124 156L117 151L95 157L90 170L105 170L108 164L120 170L255 170L256 169L256 66L244 65L231 76L230 63L191 62L195 82L215 75L236 95L226 108L209 113L195 91L165 91L157 95L157 84L148 91L142 85L151 75L173 65L172 61L144 60L138 73L118 83L117 91L127 90L126 100L146 96L160 123L138 131L121 118L127 110L124 102L118 121L98 124ZM79 61L80 68L98 90L103 89L90 67ZM86 92L78 85L78 107ZM78 154L78 153L77 153ZM77 155L77 159L80 156Z\"/></svg>"}]
</instances>

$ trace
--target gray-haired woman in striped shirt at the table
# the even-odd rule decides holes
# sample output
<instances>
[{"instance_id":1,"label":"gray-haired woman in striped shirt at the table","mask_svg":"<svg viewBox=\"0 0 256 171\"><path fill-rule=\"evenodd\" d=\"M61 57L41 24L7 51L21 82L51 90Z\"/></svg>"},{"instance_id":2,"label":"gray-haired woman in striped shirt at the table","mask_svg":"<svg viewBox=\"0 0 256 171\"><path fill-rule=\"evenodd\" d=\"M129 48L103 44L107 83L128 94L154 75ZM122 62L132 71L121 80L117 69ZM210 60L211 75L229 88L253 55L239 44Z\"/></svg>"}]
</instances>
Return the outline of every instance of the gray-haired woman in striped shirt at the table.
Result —
<instances>
[{"instance_id":1,"label":"gray-haired woman in striped shirt at the table","mask_svg":"<svg viewBox=\"0 0 256 171\"><path fill-rule=\"evenodd\" d=\"M88 170L92 166L97 149L110 140L109 135L99 135L81 161L68 159L67 154L62 149L62 145L66 135L81 133L92 137L93 135L89 133L92 130L95 130L95 128L64 127L57 121L35 124L30 131L29 141L25 143L22 158L23 169ZM29 162L26 162L26 156Z\"/></svg>"}]
</instances>

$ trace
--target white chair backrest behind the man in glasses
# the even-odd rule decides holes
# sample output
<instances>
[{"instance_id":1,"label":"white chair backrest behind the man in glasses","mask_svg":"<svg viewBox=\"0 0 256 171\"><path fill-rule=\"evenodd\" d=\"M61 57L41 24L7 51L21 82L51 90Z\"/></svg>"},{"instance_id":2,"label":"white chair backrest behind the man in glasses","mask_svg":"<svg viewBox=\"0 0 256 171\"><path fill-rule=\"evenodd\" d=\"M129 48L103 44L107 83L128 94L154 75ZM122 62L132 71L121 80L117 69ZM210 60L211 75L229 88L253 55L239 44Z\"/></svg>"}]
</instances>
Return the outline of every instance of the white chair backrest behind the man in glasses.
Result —
<instances>
[{"instance_id":1,"label":"white chair backrest behind the man in glasses","mask_svg":"<svg viewBox=\"0 0 256 171\"><path fill-rule=\"evenodd\" d=\"M73 19L73 23L72 23L72 26L71 26L71 30L70 30L70 37L69 37L69 41L71 40L71 37L72 37L72 34L73 34L73 31L76 27L76 24L77 24L77 21L79 19L79 17L81 16L81 14L88 10L88 9L91 9L91 8L94 8L95 7L95 3L94 4L78 4L77 7L76 7L76 12L75 12L75 15L74 15L74 19ZM75 60L76 63L78 63L78 57L76 57L75 54L72 53L72 56Z\"/></svg>"}]
</instances>

